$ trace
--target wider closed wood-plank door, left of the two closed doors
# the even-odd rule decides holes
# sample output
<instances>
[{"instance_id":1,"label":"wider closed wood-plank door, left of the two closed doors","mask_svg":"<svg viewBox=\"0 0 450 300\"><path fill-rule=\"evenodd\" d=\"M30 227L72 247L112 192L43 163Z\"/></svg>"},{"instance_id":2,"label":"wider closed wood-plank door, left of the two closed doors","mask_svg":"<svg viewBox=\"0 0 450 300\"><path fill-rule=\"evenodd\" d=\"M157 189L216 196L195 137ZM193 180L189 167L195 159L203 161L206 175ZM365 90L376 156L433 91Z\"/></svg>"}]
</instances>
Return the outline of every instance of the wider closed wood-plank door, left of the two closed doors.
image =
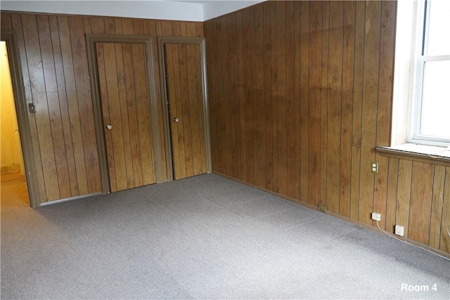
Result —
<instances>
[{"instance_id":1,"label":"wider closed wood-plank door, left of the two closed doors","mask_svg":"<svg viewBox=\"0 0 450 300\"><path fill-rule=\"evenodd\" d=\"M110 190L155 183L144 44L96 42Z\"/></svg>"}]
</instances>

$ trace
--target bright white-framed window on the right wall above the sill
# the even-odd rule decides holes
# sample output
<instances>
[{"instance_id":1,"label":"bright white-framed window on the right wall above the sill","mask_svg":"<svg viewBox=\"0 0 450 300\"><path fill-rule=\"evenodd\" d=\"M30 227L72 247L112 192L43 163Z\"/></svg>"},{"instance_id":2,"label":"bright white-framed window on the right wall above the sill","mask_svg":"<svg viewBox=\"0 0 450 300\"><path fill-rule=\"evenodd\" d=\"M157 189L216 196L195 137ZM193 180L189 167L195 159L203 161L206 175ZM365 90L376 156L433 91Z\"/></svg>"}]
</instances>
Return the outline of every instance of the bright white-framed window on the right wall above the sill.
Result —
<instances>
[{"instance_id":1,"label":"bright white-framed window on the right wall above the sill","mask_svg":"<svg viewBox=\"0 0 450 300\"><path fill-rule=\"evenodd\" d=\"M450 1L417 4L408 141L446 146L450 145Z\"/></svg>"}]
</instances>

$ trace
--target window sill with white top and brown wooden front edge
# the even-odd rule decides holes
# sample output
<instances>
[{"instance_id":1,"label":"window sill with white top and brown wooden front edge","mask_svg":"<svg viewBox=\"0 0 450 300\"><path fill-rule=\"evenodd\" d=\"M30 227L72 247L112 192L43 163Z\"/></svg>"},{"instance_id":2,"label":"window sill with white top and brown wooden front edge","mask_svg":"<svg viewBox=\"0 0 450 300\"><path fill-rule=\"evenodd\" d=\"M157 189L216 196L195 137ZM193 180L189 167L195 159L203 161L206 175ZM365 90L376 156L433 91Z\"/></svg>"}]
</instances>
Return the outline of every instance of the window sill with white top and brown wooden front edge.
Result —
<instances>
[{"instance_id":1,"label":"window sill with white top and brown wooden front edge","mask_svg":"<svg viewBox=\"0 0 450 300\"><path fill-rule=\"evenodd\" d=\"M406 143L392 147L377 147L381 156L408 159L415 162L450 167L450 149L444 147Z\"/></svg>"}]
</instances>

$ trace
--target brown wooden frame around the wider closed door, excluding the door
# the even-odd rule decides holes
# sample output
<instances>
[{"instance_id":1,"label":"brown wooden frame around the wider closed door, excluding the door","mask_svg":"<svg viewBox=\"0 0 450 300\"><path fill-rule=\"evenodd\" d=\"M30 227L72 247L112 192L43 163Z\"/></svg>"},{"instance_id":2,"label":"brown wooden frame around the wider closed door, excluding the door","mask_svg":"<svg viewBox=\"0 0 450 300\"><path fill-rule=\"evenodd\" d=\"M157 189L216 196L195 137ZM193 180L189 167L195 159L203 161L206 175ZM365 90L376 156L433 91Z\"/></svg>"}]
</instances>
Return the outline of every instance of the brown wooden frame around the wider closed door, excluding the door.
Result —
<instances>
[{"instance_id":1,"label":"brown wooden frame around the wider closed door, excluding the door","mask_svg":"<svg viewBox=\"0 0 450 300\"><path fill-rule=\"evenodd\" d=\"M152 37L144 35L118 35L118 34L86 34L87 59L89 64L89 75L91 79L92 102L94 106L94 122L96 125L98 161L100 164L100 176L102 193L110 193L110 176L108 169L108 155L106 154L105 132L103 131L103 112L101 105L100 87L98 81L98 65L96 56L96 43L129 43L143 44L146 48L148 96L150 97L150 124L152 133L153 153L155 155L155 179L161 183L162 157L159 130L158 100L155 88L155 66L153 63Z\"/></svg>"}]
</instances>

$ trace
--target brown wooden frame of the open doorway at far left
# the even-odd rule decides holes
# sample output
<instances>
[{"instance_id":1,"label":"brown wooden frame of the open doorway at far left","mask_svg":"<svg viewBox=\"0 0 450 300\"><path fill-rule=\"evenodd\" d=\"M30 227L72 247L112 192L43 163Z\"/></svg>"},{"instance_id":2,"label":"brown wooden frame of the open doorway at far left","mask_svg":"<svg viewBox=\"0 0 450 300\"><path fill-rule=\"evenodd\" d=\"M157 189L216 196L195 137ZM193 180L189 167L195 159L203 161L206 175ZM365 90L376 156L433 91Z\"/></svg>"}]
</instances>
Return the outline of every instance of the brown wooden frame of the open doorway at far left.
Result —
<instances>
[{"instance_id":1,"label":"brown wooden frame of the open doorway at far left","mask_svg":"<svg viewBox=\"0 0 450 300\"><path fill-rule=\"evenodd\" d=\"M15 112L20 132L20 144L22 147L23 163L25 164L25 176L27 178L28 197L31 207L39 207L39 184L37 183L36 164L34 162L34 149L31 138L30 119L28 117L27 98L25 96L25 84L23 83L22 64L13 30L1 30L1 41L6 41L8 49L9 69L13 84Z\"/></svg>"}]
</instances>

